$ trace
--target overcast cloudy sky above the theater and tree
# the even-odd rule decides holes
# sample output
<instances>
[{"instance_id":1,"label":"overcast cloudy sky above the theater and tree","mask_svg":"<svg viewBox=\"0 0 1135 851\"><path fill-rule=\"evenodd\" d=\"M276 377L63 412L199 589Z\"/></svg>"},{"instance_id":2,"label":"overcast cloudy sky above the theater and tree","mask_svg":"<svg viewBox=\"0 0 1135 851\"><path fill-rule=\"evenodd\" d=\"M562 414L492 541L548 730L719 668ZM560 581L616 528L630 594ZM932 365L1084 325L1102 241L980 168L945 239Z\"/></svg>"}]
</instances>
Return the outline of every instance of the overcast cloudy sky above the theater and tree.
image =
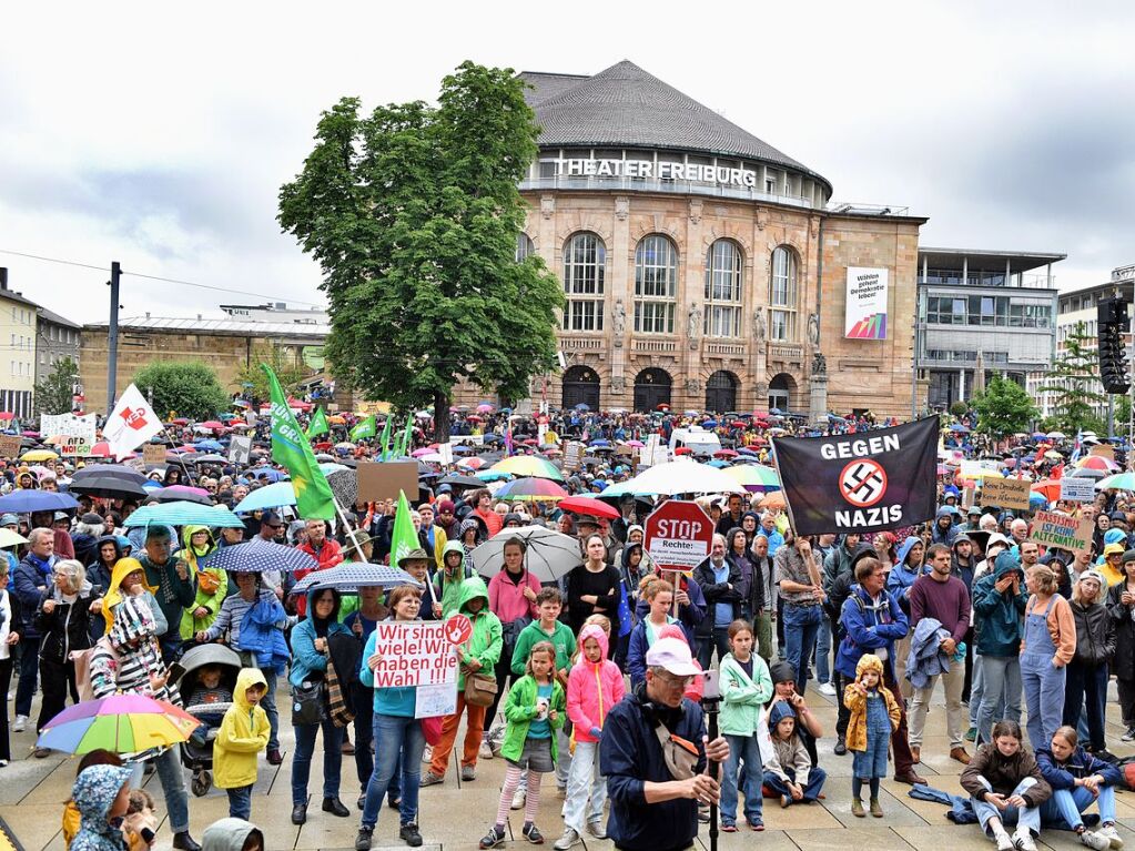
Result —
<instances>
[{"instance_id":1,"label":"overcast cloudy sky above the theater and tree","mask_svg":"<svg viewBox=\"0 0 1135 851\"><path fill-rule=\"evenodd\" d=\"M1135 262L1129 2L17 3L3 31L0 250L255 294L126 277L125 315L321 303L276 224L320 111L432 100L464 59L630 59L836 200L928 216L923 245L1065 252L1061 288ZM0 266L58 313L106 317L103 271Z\"/></svg>"}]
</instances>

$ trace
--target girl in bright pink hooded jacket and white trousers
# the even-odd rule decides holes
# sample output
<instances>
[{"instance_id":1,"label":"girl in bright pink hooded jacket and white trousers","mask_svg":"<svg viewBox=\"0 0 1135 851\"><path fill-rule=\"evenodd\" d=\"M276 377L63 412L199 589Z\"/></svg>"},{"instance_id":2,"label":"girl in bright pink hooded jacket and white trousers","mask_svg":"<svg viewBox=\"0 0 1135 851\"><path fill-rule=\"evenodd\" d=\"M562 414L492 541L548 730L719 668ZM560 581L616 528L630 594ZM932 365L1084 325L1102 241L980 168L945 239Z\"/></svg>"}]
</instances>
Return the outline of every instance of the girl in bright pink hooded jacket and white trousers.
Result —
<instances>
[{"instance_id":1,"label":"girl in bright pink hooded jacket and white trousers","mask_svg":"<svg viewBox=\"0 0 1135 851\"><path fill-rule=\"evenodd\" d=\"M622 672L607 659L607 634L602 627L588 624L580 630L579 648L579 660L568 675L568 717L575 751L568 775L564 835L555 844L558 851L574 845L585 829L596 839L606 836L602 818L607 783L599 774L599 739L607 713L624 691Z\"/></svg>"}]
</instances>

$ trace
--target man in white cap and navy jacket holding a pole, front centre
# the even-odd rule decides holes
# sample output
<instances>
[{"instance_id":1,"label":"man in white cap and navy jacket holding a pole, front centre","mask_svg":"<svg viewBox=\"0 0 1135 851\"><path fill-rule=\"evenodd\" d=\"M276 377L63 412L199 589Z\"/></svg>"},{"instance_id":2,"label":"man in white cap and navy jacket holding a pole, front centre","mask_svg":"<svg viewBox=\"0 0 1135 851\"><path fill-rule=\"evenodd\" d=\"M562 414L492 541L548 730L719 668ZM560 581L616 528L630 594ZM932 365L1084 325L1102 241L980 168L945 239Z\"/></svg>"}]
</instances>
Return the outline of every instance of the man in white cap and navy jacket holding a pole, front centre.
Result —
<instances>
[{"instance_id":1,"label":"man in white cap and navy jacket holding a pole, front centre","mask_svg":"<svg viewBox=\"0 0 1135 851\"><path fill-rule=\"evenodd\" d=\"M658 639L646 664L646 682L612 707L599 741L607 836L622 851L683 851L698 835L698 804L721 799L706 760L724 762L729 744L705 742L701 707L682 696L701 675L683 641Z\"/></svg>"}]
</instances>

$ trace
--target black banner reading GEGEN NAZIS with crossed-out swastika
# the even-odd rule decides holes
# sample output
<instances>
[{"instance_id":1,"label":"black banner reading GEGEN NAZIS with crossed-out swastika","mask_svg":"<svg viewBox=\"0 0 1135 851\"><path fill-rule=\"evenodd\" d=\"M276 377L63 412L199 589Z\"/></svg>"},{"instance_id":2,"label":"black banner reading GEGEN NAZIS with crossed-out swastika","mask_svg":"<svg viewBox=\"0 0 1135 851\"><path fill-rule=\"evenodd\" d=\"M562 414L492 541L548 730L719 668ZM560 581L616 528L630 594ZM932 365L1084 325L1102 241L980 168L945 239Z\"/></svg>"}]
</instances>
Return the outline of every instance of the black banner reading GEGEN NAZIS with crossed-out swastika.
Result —
<instances>
[{"instance_id":1,"label":"black banner reading GEGEN NAZIS with crossed-out swastika","mask_svg":"<svg viewBox=\"0 0 1135 851\"><path fill-rule=\"evenodd\" d=\"M797 534L880 532L934 516L936 416L830 437L773 438Z\"/></svg>"}]
</instances>

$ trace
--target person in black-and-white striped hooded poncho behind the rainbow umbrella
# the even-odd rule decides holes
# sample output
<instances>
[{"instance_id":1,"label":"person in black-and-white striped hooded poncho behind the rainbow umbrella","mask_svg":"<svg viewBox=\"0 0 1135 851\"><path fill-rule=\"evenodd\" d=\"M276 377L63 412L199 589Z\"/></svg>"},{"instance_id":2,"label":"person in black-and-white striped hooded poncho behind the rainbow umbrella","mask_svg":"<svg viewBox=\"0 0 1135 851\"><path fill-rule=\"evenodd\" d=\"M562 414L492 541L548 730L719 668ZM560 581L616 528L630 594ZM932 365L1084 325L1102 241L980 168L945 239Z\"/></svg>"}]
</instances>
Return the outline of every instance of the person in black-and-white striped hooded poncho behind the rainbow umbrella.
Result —
<instances>
[{"instance_id":1,"label":"person in black-and-white striped hooded poncho behind the rainbow umbrella","mask_svg":"<svg viewBox=\"0 0 1135 851\"><path fill-rule=\"evenodd\" d=\"M180 694L167 684L169 669L161 657L154 615L142 597L127 596L115 607L114 625L91 652L90 679L95 700L125 693L182 705ZM166 797L174 848L201 851L190 835L190 800L177 748L166 749L153 761ZM141 761L134 764L134 780L142 781Z\"/></svg>"}]
</instances>

